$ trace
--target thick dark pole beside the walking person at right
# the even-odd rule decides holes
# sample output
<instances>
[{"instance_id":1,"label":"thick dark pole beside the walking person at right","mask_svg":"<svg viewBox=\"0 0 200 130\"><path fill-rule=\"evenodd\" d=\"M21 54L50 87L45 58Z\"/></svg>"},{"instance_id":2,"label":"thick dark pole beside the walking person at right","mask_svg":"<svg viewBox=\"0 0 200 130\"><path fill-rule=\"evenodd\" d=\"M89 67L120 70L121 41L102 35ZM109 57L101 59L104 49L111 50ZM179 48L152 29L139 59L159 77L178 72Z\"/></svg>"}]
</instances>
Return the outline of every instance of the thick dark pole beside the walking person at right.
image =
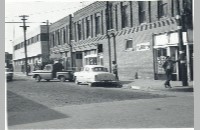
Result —
<instances>
[{"instance_id":1,"label":"thick dark pole beside the walking person at right","mask_svg":"<svg viewBox=\"0 0 200 130\"><path fill-rule=\"evenodd\" d=\"M181 19L181 13L180 13L180 2L179 0L176 0L176 8L177 8L177 27L178 27L178 38L179 38L179 56L180 56L180 67L181 67L181 80L183 86L188 86L187 81L187 67L186 67L186 59L185 59L185 50L183 48L183 34L182 34L182 19Z\"/></svg>"}]
</instances>

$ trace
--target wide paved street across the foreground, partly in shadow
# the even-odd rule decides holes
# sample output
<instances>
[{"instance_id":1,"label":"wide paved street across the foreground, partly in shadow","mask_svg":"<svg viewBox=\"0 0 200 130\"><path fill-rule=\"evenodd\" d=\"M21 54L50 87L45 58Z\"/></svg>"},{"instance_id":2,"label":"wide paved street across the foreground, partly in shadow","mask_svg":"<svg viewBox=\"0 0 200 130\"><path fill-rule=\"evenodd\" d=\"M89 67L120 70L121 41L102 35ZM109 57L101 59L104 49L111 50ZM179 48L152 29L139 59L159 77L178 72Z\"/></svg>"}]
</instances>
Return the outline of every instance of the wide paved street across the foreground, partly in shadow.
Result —
<instances>
[{"instance_id":1,"label":"wide paved street across the foreground, partly in shadow","mask_svg":"<svg viewBox=\"0 0 200 130\"><path fill-rule=\"evenodd\" d=\"M7 83L9 128L190 128L192 92L141 91L72 82Z\"/></svg>"}]
</instances>

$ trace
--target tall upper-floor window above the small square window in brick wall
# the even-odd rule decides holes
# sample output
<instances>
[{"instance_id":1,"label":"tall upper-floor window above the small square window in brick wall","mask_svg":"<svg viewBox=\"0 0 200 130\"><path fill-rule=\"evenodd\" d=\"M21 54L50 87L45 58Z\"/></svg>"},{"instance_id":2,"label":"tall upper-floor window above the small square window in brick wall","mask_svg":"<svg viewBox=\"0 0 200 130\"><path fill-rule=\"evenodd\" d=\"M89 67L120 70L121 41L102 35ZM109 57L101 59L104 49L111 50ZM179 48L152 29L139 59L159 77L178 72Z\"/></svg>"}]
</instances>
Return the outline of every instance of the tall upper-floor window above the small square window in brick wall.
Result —
<instances>
[{"instance_id":1,"label":"tall upper-floor window above the small square window in brick wall","mask_svg":"<svg viewBox=\"0 0 200 130\"><path fill-rule=\"evenodd\" d=\"M122 5L122 28L125 28L128 26L128 6Z\"/></svg>"}]
</instances>

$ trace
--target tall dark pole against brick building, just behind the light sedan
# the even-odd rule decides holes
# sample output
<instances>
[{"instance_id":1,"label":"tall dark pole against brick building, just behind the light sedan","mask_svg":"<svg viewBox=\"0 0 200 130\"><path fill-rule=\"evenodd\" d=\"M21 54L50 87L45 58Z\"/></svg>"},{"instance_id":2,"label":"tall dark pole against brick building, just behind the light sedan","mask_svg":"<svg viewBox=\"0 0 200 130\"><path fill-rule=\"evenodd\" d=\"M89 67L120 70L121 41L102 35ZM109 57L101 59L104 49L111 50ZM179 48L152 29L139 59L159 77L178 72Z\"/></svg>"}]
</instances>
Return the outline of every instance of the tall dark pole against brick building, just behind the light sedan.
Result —
<instances>
[{"instance_id":1,"label":"tall dark pole against brick building, just behind the light sedan","mask_svg":"<svg viewBox=\"0 0 200 130\"><path fill-rule=\"evenodd\" d=\"M111 45L110 45L110 35L108 33L110 29L110 19L109 19L109 1L106 2L106 36L108 38L108 59L109 59L109 70L112 72L111 68Z\"/></svg>"}]
</instances>

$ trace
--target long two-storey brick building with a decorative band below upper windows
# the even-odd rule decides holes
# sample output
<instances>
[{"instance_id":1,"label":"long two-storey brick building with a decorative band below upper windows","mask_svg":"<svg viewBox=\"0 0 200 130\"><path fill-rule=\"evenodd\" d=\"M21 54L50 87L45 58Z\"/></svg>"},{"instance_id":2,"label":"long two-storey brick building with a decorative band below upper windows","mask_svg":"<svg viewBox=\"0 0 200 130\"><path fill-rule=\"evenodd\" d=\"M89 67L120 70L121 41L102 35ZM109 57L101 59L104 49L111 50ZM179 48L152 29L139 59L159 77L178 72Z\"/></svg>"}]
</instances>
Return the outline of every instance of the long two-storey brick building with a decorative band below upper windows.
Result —
<instances>
[{"instance_id":1,"label":"long two-storey brick building with a decorative band below upper windows","mask_svg":"<svg viewBox=\"0 0 200 130\"><path fill-rule=\"evenodd\" d=\"M134 79L136 73L140 78L162 79L165 57L179 57L176 4L176 0L94 2L50 26L51 54L71 57L71 66L77 68L102 64L111 70L115 60L120 79ZM192 0L180 0L179 5L186 19L182 35L192 79ZM176 64L174 80L180 80L180 73Z\"/></svg>"}]
</instances>

